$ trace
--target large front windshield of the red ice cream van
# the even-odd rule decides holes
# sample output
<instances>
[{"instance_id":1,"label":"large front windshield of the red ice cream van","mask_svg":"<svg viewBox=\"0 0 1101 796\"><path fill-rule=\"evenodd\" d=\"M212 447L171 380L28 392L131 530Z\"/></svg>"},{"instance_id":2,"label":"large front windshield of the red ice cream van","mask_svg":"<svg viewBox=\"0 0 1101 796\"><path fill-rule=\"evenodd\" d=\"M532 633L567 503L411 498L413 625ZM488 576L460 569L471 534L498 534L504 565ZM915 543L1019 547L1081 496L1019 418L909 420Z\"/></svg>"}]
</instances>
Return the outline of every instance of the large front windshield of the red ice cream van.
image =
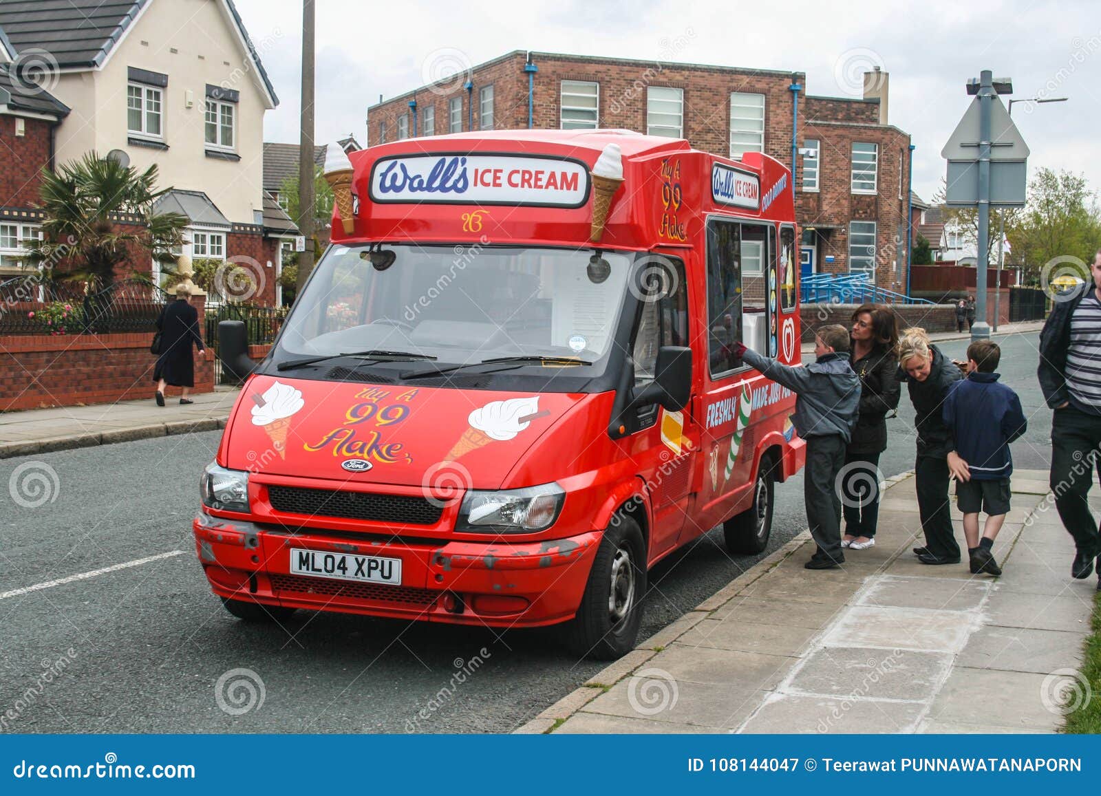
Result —
<instances>
[{"instance_id":1,"label":"large front windshield of the red ice cream van","mask_svg":"<svg viewBox=\"0 0 1101 796\"><path fill-rule=\"evenodd\" d=\"M599 375L632 260L478 244L334 246L295 302L280 348L288 357L408 352L435 358L434 367L570 358L598 366L584 370Z\"/></svg>"}]
</instances>

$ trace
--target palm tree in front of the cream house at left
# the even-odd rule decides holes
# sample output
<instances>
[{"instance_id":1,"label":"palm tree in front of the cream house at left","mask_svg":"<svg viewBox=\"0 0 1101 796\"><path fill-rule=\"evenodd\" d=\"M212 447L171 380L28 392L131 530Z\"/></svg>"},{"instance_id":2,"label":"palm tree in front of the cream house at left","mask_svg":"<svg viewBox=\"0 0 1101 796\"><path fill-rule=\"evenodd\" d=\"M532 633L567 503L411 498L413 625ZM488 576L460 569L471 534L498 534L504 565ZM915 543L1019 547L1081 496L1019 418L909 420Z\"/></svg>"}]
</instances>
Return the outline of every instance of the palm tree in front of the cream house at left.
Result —
<instances>
[{"instance_id":1,"label":"palm tree in front of the cream house at left","mask_svg":"<svg viewBox=\"0 0 1101 796\"><path fill-rule=\"evenodd\" d=\"M56 172L43 168L42 240L33 241L28 259L48 276L87 282L94 292L110 286L116 266L138 253L142 262L174 262L172 249L182 243L188 219L153 215L153 204L171 190L157 190L156 177L156 165L139 173L95 152ZM118 214L137 216L140 231L120 229Z\"/></svg>"}]
</instances>

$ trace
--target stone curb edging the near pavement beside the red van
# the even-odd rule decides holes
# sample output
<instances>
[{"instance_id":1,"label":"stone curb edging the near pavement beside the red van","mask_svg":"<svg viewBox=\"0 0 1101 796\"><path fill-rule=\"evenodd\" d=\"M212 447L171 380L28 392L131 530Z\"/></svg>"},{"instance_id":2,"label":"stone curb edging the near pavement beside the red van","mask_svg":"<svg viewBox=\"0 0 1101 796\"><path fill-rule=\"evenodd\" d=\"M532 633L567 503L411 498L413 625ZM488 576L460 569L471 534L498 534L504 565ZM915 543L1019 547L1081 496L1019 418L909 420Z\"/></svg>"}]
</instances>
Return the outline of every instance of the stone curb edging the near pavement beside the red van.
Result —
<instances>
[{"instance_id":1,"label":"stone curb edging the near pavement beside the red van","mask_svg":"<svg viewBox=\"0 0 1101 796\"><path fill-rule=\"evenodd\" d=\"M914 475L913 470L900 472L897 476L885 479L884 492L891 487ZM580 688L577 688L546 710L541 711L534 719L524 722L512 734L530 735L546 734L553 732L558 724L574 716L590 701L599 697L620 680L633 675L646 661L656 655L661 648L668 646L688 633L698 622L707 619L712 611L721 608L739 591L750 584L767 575L781 561L792 556L810 542L810 531L806 530L788 539L783 546L762 558L744 573L738 575L733 580L716 591L709 598L699 603L695 609L682 614L674 622L654 633L652 636L640 643L634 650L595 674L586 680Z\"/></svg>"}]
</instances>

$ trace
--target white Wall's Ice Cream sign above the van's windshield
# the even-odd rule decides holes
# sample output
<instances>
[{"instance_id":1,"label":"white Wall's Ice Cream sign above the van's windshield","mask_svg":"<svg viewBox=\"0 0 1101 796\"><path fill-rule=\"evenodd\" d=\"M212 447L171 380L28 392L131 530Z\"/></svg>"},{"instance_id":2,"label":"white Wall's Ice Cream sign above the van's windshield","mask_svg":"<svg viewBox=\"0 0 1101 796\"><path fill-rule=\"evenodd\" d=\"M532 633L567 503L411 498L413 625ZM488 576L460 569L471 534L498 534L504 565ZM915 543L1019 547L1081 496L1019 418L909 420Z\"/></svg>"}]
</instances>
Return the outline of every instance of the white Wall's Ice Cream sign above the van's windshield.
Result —
<instances>
[{"instance_id":1,"label":"white Wall's Ice Cream sign above the van's windshield","mask_svg":"<svg viewBox=\"0 0 1101 796\"><path fill-rule=\"evenodd\" d=\"M371 171L378 203L580 207L588 198L588 167L564 157L400 155Z\"/></svg>"}]
</instances>

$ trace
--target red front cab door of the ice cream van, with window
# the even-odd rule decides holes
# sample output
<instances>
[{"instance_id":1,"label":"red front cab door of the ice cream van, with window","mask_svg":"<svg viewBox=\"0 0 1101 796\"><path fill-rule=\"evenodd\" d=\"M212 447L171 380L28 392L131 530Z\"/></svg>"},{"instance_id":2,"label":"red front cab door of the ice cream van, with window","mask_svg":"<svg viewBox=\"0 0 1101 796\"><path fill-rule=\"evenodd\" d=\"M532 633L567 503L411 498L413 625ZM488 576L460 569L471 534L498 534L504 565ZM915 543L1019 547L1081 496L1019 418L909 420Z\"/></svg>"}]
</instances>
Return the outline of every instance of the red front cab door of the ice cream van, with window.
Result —
<instances>
[{"instance_id":1,"label":"red front cab door of the ice cream van, with window","mask_svg":"<svg viewBox=\"0 0 1101 796\"><path fill-rule=\"evenodd\" d=\"M640 268L642 274L633 286L640 286L642 310L632 338L632 361L635 390L654 379L657 349L662 346L690 346L688 329L688 283L684 262L676 257L651 254ZM632 287L635 290L635 287ZM689 401L680 412L669 412L657 405L639 410L641 430L636 445L640 471L646 479L654 527L651 532L651 559L668 552L688 513L691 472L699 447L700 429ZM656 452L656 456L654 455Z\"/></svg>"}]
</instances>

